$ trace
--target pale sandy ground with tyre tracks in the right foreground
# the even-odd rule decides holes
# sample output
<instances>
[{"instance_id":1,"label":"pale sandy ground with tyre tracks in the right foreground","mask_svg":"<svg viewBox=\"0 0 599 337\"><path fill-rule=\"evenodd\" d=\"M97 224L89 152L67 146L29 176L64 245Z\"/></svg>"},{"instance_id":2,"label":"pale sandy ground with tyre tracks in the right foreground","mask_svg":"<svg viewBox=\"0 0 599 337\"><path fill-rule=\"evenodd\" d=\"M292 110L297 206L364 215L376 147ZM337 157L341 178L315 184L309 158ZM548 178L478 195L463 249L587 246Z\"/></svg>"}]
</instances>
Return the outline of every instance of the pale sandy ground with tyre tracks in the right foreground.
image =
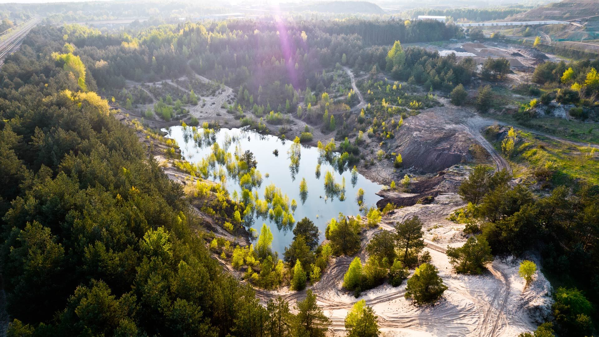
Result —
<instances>
[{"instance_id":1,"label":"pale sandy ground with tyre tracks in the right foreground","mask_svg":"<svg viewBox=\"0 0 599 337\"><path fill-rule=\"evenodd\" d=\"M352 257L338 257L331 261L322 279L308 287L317 294L318 304L331 318L329 334L343 335L347 312L361 299L373 307L379 316L380 330L388 336L516 336L536 329L552 302L548 296L549 282L541 273L524 289L524 282L518 276L519 261L512 259L494 261L483 275L459 275L453 270L444 254L445 248L460 246L465 238L460 234L462 226L445 216L460 206L463 203L455 192L440 194L432 204L416 204L384 216L380 227L366 231L367 239L362 241L364 248L381 228L393 230L396 221L419 215L425 222L425 249L448 287L440 301L431 306L413 305L404 297L406 282L400 287L380 285L356 299L341 287ZM431 242L432 237L435 243ZM364 249L359 256L365 260ZM258 289L257 293L264 302L281 296L294 303L305 296L305 290L296 292L289 288Z\"/></svg>"}]
</instances>

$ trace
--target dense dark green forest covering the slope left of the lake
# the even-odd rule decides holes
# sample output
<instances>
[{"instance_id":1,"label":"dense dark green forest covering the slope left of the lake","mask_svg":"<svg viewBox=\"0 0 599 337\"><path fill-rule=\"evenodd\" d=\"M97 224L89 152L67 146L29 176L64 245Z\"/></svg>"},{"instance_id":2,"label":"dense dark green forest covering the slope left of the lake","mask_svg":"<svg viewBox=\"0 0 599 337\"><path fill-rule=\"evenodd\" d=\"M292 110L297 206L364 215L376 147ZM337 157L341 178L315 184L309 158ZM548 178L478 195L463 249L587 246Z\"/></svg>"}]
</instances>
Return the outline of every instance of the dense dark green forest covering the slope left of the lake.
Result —
<instances>
[{"instance_id":1,"label":"dense dark green forest covering the slope left of the lake","mask_svg":"<svg viewBox=\"0 0 599 337\"><path fill-rule=\"evenodd\" d=\"M322 336L310 291L292 314L223 272L181 185L48 34L32 32L0 73L8 335Z\"/></svg>"}]
</instances>

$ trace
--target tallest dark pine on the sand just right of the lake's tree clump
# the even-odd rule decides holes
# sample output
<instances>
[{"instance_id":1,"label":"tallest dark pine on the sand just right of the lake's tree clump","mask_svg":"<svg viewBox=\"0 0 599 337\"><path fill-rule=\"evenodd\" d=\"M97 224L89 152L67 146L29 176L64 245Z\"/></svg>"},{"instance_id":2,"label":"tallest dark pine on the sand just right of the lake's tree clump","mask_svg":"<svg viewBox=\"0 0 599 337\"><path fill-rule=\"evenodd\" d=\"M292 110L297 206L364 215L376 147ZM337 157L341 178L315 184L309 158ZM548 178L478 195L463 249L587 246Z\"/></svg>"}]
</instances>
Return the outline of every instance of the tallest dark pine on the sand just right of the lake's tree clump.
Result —
<instances>
[{"instance_id":1,"label":"tallest dark pine on the sand just right of the lake's tree clump","mask_svg":"<svg viewBox=\"0 0 599 337\"><path fill-rule=\"evenodd\" d=\"M395 240L399 257L404 266L414 263L413 257L417 257L424 248L422 235L422 221L417 215L395 224Z\"/></svg>"}]
</instances>

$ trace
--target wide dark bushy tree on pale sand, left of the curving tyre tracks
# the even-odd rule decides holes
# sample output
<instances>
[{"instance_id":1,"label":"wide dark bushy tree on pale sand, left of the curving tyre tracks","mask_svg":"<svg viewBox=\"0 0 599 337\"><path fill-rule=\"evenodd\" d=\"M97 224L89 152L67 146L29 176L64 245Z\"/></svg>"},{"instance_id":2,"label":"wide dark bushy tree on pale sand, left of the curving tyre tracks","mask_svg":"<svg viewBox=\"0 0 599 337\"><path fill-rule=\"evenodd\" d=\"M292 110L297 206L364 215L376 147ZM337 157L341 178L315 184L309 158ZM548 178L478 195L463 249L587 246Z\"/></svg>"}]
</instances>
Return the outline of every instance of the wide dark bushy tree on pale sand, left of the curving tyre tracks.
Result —
<instances>
[{"instance_id":1,"label":"wide dark bushy tree on pale sand, left of the curving tyre tracks","mask_svg":"<svg viewBox=\"0 0 599 337\"><path fill-rule=\"evenodd\" d=\"M468 237L459 248L447 248L449 262L458 273L479 275L485 270L485 264L493 261L491 247L483 236Z\"/></svg>"}]
</instances>

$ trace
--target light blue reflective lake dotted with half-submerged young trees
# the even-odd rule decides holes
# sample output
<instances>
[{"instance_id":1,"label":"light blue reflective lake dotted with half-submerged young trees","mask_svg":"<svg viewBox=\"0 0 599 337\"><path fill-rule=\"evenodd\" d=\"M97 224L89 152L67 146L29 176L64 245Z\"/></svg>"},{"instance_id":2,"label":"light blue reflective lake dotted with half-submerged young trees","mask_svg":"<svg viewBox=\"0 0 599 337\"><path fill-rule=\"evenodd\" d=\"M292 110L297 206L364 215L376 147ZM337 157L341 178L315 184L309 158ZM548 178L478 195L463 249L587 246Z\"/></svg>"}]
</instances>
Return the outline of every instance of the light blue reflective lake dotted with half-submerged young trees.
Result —
<instances>
[{"instance_id":1,"label":"light blue reflective lake dotted with half-submerged young trees","mask_svg":"<svg viewBox=\"0 0 599 337\"><path fill-rule=\"evenodd\" d=\"M201 128L198 128L202 133ZM344 215L357 215L360 213L360 207L356 201L358 189L364 189L364 204L373 206L381 197L376 195L382 185L371 182L359 173L353 174L352 170L346 169L343 173L332 166L328 161L320 156L319 149L312 146L301 146L301 155L297 165L290 165L291 158L288 151L292 148L291 140L283 140L276 136L262 135L255 131L243 129L226 129L214 131L209 137L196 137L194 140L191 127L171 127L163 129L167 132L167 137L177 141L181 149L182 157L190 163L201 161L202 158L211 154L211 145L216 142L220 148L227 149L229 152L235 152L239 146L241 153L250 150L255 155L256 169L262 173L262 184L255 188L260 198L264 198L264 189L270 183L274 183L280 188L283 194L287 194L289 201L297 201L297 209L293 213L295 221L299 221L307 216L320 230L320 240L325 237L326 222L331 218L337 218L339 212ZM277 150L278 156L273 152ZM316 174L316 167L320 164L320 174ZM218 166L218 164L217 164ZM341 185L345 179L344 195L345 200L340 200L339 193L331 193L330 189L325 188L326 171L331 171L335 182ZM268 175L268 176L267 176ZM299 191L299 183L305 178L308 187L307 195L302 195ZM212 179L211 177L208 179ZM225 184L229 195L237 191L241 195L241 187L237 179L228 177ZM341 197L342 198L342 197ZM262 224L265 223L273 232L273 251L279 252L279 258L283 257L285 247L291 243L294 234L293 227L281 226L268 216L257 217L252 228L259 234Z\"/></svg>"}]
</instances>

